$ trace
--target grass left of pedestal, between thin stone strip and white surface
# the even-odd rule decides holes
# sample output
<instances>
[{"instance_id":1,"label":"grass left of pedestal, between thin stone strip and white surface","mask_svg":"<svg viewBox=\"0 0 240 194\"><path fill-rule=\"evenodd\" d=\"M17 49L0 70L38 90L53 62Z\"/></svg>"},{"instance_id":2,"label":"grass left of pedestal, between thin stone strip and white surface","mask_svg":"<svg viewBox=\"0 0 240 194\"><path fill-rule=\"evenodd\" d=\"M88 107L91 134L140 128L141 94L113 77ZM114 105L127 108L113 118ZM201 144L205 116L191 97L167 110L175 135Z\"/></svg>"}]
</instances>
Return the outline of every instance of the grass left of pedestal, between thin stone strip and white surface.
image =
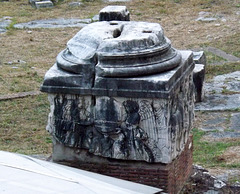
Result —
<instances>
[{"instance_id":1,"label":"grass left of pedestal, between thin stone strip and white surface","mask_svg":"<svg viewBox=\"0 0 240 194\"><path fill-rule=\"evenodd\" d=\"M0 112L0 150L51 153L51 138L45 130L49 112L45 94L0 101Z\"/></svg>"}]
</instances>

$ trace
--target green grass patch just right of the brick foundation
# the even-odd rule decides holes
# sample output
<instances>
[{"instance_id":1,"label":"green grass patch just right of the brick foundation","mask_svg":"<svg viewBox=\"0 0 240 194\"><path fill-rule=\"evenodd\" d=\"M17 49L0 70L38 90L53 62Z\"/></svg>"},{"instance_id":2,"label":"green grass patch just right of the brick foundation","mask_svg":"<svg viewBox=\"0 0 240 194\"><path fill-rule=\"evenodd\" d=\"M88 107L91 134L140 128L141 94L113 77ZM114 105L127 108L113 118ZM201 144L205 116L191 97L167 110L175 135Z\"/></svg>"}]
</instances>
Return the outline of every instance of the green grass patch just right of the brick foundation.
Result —
<instances>
[{"instance_id":1,"label":"green grass patch just right of the brick foundation","mask_svg":"<svg viewBox=\"0 0 240 194\"><path fill-rule=\"evenodd\" d=\"M194 129L193 130L193 145L194 163L208 167L225 167L225 168L239 168L240 164L226 164L222 157L223 152L232 146L239 146L240 140L233 142L207 142L202 141L201 138L207 132Z\"/></svg>"}]
</instances>

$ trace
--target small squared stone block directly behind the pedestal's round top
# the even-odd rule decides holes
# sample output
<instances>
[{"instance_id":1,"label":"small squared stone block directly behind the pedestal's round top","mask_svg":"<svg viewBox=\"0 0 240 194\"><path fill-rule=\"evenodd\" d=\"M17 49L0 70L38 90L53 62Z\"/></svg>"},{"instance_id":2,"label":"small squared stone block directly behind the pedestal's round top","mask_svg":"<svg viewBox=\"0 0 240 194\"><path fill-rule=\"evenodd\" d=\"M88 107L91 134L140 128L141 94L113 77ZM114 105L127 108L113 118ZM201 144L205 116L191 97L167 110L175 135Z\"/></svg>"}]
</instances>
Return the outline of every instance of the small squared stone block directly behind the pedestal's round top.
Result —
<instances>
[{"instance_id":1,"label":"small squared stone block directly behind the pedestal's round top","mask_svg":"<svg viewBox=\"0 0 240 194\"><path fill-rule=\"evenodd\" d=\"M99 12L99 21L129 21L130 14L126 6L107 6Z\"/></svg>"}]
</instances>

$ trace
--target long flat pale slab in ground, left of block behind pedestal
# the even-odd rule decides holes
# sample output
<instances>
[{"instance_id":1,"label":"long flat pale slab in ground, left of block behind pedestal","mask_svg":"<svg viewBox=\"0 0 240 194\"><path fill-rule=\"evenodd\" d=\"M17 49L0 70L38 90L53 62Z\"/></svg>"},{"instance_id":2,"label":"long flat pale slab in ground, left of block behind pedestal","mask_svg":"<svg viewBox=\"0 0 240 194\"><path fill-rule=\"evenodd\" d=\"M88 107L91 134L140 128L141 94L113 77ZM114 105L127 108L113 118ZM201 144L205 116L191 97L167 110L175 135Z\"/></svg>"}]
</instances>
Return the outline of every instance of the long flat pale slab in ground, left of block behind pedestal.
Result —
<instances>
[{"instance_id":1,"label":"long flat pale slab in ground, left of block behind pedestal","mask_svg":"<svg viewBox=\"0 0 240 194\"><path fill-rule=\"evenodd\" d=\"M48 19L48 20L35 20L27 23L15 24L15 28L68 28L68 27L79 27L83 28L87 24L91 23L91 19L77 19L77 18L58 18L58 19Z\"/></svg>"}]
</instances>

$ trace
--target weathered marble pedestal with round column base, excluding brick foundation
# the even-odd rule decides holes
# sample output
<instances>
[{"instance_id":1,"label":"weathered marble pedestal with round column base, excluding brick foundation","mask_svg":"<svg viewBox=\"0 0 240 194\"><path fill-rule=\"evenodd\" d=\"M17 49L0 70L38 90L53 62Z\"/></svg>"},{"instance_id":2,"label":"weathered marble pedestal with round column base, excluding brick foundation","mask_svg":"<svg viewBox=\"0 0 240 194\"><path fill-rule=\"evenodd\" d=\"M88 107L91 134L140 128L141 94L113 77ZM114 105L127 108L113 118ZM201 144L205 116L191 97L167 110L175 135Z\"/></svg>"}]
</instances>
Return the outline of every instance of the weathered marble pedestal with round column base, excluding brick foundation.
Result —
<instances>
[{"instance_id":1,"label":"weathered marble pedestal with round column base, excluding brick foundation","mask_svg":"<svg viewBox=\"0 0 240 194\"><path fill-rule=\"evenodd\" d=\"M159 24L88 25L58 55L41 87L49 93L54 146L79 150L76 158L84 150L170 163L192 127L193 69L192 52L172 48ZM64 148L59 152L68 159Z\"/></svg>"}]
</instances>

